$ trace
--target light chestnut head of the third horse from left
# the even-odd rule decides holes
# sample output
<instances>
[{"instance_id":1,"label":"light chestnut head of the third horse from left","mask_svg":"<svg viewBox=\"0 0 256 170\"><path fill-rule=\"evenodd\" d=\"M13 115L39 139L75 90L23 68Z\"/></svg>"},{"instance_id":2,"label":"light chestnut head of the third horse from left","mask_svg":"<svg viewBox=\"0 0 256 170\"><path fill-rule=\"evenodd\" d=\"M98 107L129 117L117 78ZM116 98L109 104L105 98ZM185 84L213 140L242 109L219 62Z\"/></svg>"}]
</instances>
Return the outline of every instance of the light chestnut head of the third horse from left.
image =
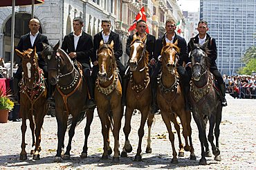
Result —
<instances>
[{"instance_id":1,"label":"light chestnut head of the third horse from left","mask_svg":"<svg viewBox=\"0 0 256 170\"><path fill-rule=\"evenodd\" d=\"M115 56L113 55L113 41L111 41L111 44L104 44L103 41L100 41L98 62L100 82L107 82L108 79L112 78L111 75L113 75L114 67L116 68Z\"/></svg>"}]
</instances>

